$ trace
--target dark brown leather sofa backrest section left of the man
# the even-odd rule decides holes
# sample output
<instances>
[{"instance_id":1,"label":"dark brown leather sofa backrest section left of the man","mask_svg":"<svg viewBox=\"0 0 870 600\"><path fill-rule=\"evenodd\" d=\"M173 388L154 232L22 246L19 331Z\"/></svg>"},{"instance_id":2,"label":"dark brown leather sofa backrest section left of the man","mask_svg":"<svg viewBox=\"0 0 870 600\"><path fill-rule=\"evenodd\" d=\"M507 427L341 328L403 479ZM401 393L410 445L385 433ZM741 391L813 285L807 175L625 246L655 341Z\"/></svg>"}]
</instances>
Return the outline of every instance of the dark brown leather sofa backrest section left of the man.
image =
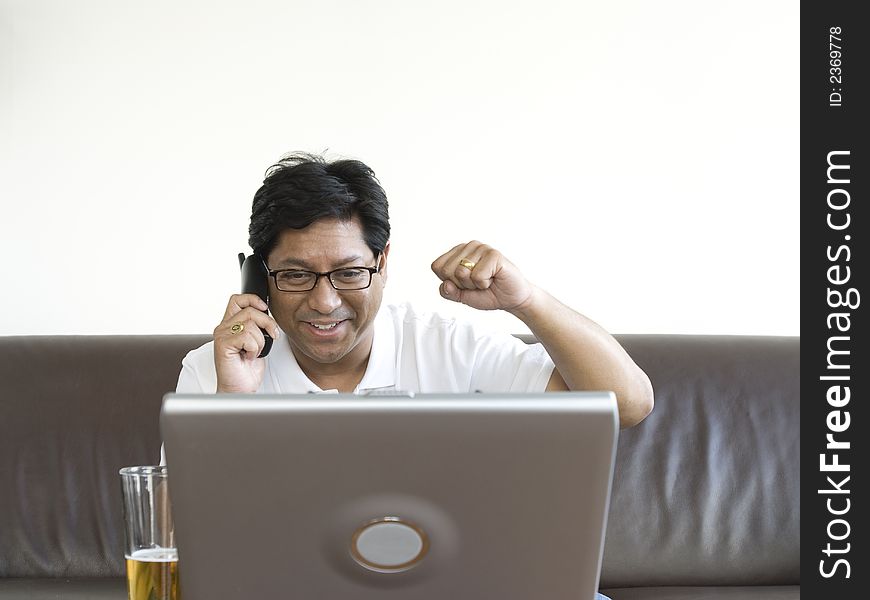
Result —
<instances>
[{"instance_id":1,"label":"dark brown leather sofa backrest section left of the man","mask_svg":"<svg viewBox=\"0 0 870 600\"><path fill-rule=\"evenodd\" d=\"M0 577L123 575L118 469L160 460L163 394L206 339L0 338Z\"/></svg>"}]
</instances>

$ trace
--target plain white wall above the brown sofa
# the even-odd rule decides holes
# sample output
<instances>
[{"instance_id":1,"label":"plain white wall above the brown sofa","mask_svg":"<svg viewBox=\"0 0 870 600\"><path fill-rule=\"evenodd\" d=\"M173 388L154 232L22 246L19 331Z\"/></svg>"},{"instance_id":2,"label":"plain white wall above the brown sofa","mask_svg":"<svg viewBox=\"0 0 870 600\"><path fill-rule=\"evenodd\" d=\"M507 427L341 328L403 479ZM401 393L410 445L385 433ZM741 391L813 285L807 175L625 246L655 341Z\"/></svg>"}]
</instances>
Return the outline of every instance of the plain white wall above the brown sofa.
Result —
<instances>
[{"instance_id":1,"label":"plain white wall above the brown sofa","mask_svg":"<svg viewBox=\"0 0 870 600\"><path fill-rule=\"evenodd\" d=\"M0 0L0 334L210 332L291 150L359 158L387 299L477 238L613 332L799 334L799 8ZM508 315L484 320L524 331Z\"/></svg>"}]
</instances>

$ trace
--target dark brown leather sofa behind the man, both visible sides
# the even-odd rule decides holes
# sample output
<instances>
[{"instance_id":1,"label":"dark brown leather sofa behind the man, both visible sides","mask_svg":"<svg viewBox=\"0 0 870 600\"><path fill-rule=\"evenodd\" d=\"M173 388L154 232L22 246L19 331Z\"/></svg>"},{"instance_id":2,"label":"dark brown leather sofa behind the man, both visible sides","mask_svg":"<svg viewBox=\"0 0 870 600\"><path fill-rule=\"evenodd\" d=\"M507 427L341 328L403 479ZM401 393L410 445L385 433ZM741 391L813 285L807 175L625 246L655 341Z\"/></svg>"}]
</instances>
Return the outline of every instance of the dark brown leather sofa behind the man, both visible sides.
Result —
<instances>
[{"instance_id":1,"label":"dark brown leather sofa behind the man, both visible sides","mask_svg":"<svg viewBox=\"0 0 870 600\"><path fill-rule=\"evenodd\" d=\"M800 339L618 338L656 407L620 433L602 591L799 598ZM159 459L161 399L206 339L0 338L0 600L125 597L118 469Z\"/></svg>"}]
</instances>

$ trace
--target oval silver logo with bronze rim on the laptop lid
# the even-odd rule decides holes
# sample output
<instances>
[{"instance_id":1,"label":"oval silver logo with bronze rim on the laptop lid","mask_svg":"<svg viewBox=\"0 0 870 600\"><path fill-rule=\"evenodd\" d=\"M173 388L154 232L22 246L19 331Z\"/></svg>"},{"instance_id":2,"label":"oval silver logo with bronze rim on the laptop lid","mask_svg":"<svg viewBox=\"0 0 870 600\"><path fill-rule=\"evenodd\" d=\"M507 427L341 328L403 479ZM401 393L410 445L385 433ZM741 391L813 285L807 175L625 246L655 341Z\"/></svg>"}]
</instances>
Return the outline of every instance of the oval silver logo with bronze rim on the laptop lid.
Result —
<instances>
[{"instance_id":1,"label":"oval silver logo with bronze rim on the laptop lid","mask_svg":"<svg viewBox=\"0 0 870 600\"><path fill-rule=\"evenodd\" d=\"M401 573L429 551L429 537L419 526L399 517L381 517L357 529L350 542L353 559L369 571Z\"/></svg>"}]
</instances>

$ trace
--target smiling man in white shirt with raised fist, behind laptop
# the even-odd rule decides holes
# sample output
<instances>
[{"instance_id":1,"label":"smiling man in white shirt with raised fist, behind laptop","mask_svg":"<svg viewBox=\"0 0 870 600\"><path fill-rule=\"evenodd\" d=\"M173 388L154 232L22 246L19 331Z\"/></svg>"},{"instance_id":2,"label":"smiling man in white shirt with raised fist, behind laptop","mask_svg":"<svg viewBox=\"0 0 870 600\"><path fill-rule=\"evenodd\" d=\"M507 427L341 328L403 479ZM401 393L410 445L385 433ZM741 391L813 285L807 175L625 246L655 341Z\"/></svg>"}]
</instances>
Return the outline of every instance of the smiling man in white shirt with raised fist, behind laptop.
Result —
<instances>
[{"instance_id":1,"label":"smiling man in white shirt with raised fist, behind laptop","mask_svg":"<svg viewBox=\"0 0 870 600\"><path fill-rule=\"evenodd\" d=\"M268 304L233 295L213 342L185 357L178 392L612 390L621 427L652 410L649 379L610 334L481 242L432 263L441 296L508 311L540 345L407 305L382 308L388 203L359 161L285 157L254 196L249 234L268 271ZM263 332L274 347L258 358Z\"/></svg>"}]
</instances>

